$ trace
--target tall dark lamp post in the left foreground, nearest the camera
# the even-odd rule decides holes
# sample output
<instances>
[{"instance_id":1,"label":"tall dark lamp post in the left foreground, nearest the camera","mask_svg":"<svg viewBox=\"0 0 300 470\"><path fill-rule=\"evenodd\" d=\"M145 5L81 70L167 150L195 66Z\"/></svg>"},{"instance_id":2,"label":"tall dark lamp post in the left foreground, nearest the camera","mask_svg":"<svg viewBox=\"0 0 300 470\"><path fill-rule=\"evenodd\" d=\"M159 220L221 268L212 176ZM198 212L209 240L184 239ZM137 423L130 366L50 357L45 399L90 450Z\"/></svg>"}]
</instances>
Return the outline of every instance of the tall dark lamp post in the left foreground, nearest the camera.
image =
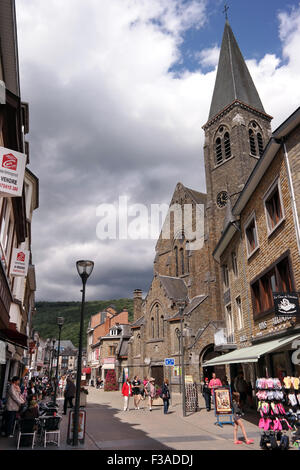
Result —
<instances>
[{"instance_id":1,"label":"tall dark lamp post in the left foreground, nearest the camera","mask_svg":"<svg viewBox=\"0 0 300 470\"><path fill-rule=\"evenodd\" d=\"M79 405L80 405L80 382L81 382L81 361L82 361L82 334L83 334L83 313L85 302L85 286L86 282L91 275L94 262L93 261L77 261L77 271L82 280L82 301L81 301L81 314L80 314L80 331L79 331L79 348L77 360L77 375L76 375L76 398L74 410L74 428L73 428L73 446L78 446L78 424L79 424Z\"/></svg>"}]
</instances>

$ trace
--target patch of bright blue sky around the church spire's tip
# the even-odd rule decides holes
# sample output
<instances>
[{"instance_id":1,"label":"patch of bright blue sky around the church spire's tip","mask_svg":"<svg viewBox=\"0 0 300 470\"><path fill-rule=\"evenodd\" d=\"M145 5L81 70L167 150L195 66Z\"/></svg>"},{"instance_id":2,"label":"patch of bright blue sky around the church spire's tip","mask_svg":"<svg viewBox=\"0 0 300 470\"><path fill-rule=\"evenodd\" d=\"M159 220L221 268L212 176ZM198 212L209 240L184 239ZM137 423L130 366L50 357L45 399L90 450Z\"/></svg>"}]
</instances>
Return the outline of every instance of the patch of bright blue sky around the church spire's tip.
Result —
<instances>
[{"instance_id":1,"label":"patch of bright blue sky around the church spire's tip","mask_svg":"<svg viewBox=\"0 0 300 470\"><path fill-rule=\"evenodd\" d=\"M225 22L224 4L223 0L208 0L205 26L186 31L180 48L183 62L176 64L171 70L195 71L199 68L199 62L191 52L216 44L221 46ZM290 12L299 5L299 1L228 0L227 5L229 23L246 59L260 60L266 53L281 57L278 14L281 11Z\"/></svg>"}]
</instances>

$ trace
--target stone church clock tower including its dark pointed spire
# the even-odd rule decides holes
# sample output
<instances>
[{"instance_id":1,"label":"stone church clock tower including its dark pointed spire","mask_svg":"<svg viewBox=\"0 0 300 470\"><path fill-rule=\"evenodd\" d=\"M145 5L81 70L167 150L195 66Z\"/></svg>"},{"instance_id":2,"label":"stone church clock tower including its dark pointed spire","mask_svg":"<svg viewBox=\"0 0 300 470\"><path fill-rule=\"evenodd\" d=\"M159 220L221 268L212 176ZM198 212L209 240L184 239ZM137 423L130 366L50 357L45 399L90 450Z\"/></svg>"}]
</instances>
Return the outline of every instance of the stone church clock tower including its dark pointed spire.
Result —
<instances>
[{"instance_id":1,"label":"stone church clock tower including its dark pointed spire","mask_svg":"<svg viewBox=\"0 0 300 470\"><path fill-rule=\"evenodd\" d=\"M271 119L226 20L208 122L203 126L212 250L228 217L228 205L237 200L270 138Z\"/></svg>"}]
</instances>

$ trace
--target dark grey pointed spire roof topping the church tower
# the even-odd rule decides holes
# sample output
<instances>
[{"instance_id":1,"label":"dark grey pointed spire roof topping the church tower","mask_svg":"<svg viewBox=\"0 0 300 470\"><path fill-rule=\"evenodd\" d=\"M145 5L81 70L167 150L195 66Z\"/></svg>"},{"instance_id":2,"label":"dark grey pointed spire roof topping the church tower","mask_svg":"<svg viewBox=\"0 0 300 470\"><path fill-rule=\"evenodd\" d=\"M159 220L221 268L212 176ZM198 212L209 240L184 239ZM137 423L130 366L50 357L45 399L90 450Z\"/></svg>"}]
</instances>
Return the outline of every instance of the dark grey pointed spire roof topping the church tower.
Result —
<instances>
[{"instance_id":1,"label":"dark grey pointed spire roof topping the church tower","mask_svg":"<svg viewBox=\"0 0 300 470\"><path fill-rule=\"evenodd\" d=\"M209 120L236 100L265 114L244 57L226 19Z\"/></svg>"}]
</instances>

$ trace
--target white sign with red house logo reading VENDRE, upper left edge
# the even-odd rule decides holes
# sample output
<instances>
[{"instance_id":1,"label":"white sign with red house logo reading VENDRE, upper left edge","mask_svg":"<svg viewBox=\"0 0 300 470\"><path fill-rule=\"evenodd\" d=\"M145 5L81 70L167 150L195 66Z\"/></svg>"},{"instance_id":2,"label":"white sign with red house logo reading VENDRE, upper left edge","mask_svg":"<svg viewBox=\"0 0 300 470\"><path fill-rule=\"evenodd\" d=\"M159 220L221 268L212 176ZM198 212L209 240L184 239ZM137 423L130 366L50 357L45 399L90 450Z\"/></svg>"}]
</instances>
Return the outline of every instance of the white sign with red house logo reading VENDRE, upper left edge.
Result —
<instances>
[{"instance_id":1,"label":"white sign with red house logo reading VENDRE, upper left edge","mask_svg":"<svg viewBox=\"0 0 300 470\"><path fill-rule=\"evenodd\" d=\"M0 196L22 196L26 155L0 147Z\"/></svg>"}]
</instances>

